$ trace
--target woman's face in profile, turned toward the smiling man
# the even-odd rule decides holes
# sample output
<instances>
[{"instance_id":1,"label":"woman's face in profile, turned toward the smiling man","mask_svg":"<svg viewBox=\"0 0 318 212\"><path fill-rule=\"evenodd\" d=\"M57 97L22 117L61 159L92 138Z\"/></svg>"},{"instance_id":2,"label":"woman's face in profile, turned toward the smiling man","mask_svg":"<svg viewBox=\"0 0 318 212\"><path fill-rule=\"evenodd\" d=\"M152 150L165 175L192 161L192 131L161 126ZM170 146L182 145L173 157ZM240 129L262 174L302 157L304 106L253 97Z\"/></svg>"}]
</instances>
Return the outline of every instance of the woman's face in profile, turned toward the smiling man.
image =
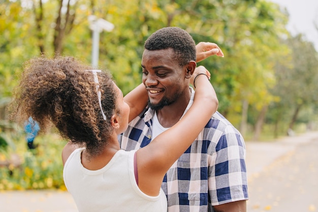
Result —
<instances>
[{"instance_id":1,"label":"woman's face in profile, turned toward the smiling man","mask_svg":"<svg viewBox=\"0 0 318 212\"><path fill-rule=\"evenodd\" d=\"M128 120L129 120L129 113L130 107L127 103L123 101L123 95L121 90L117 85L115 85L116 89L116 105L117 105L117 122L119 124L119 128L116 129L117 134L123 133L128 128Z\"/></svg>"}]
</instances>

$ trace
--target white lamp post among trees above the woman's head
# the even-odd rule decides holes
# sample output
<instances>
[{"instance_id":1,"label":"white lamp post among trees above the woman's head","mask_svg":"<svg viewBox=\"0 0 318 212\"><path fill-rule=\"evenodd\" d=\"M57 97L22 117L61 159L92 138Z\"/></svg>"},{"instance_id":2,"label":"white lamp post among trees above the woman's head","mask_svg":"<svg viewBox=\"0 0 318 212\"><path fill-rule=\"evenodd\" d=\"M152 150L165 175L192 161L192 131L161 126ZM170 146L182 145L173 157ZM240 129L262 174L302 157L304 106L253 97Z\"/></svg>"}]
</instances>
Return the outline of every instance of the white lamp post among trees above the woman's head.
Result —
<instances>
[{"instance_id":1,"label":"white lamp post among trees above the woman's head","mask_svg":"<svg viewBox=\"0 0 318 212\"><path fill-rule=\"evenodd\" d=\"M100 51L100 33L103 30L111 32L114 28L114 24L102 18L97 18L94 15L88 16L88 21L89 28L92 30L91 65L93 68L97 68Z\"/></svg>"}]
</instances>

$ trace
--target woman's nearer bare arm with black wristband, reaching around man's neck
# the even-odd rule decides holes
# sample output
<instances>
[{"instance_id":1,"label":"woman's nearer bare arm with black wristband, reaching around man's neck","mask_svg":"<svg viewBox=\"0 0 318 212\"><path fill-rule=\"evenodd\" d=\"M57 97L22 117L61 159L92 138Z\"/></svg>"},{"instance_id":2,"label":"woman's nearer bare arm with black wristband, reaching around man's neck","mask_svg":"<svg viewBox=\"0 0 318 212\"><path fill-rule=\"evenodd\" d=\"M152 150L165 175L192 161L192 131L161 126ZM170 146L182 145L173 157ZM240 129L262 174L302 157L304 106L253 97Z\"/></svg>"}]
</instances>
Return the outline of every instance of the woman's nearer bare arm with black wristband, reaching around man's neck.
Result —
<instances>
[{"instance_id":1,"label":"woman's nearer bare arm with black wristband, reaching around man's neck","mask_svg":"<svg viewBox=\"0 0 318 212\"><path fill-rule=\"evenodd\" d=\"M194 103L179 122L137 151L139 188L148 195L157 194L165 173L198 137L217 109L218 100L203 74L206 72L203 66L196 69Z\"/></svg>"}]
</instances>

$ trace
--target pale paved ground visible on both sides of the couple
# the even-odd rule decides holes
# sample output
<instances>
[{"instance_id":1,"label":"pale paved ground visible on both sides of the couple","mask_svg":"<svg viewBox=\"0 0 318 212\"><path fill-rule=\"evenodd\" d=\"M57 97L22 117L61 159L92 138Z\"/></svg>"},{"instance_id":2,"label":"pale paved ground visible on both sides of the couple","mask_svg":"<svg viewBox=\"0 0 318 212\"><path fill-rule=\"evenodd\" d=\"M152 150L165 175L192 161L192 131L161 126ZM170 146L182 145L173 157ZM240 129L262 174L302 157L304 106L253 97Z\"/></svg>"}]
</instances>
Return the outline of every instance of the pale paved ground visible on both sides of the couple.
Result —
<instances>
[{"instance_id":1,"label":"pale paved ground visible on both sides of the couple","mask_svg":"<svg viewBox=\"0 0 318 212\"><path fill-rule=\"evenodd\" d=\"M318 132L246 142L248 212L318 211ZM0 212L76 212L68 192L0 192Z\"/></svg>"}]
</instances>

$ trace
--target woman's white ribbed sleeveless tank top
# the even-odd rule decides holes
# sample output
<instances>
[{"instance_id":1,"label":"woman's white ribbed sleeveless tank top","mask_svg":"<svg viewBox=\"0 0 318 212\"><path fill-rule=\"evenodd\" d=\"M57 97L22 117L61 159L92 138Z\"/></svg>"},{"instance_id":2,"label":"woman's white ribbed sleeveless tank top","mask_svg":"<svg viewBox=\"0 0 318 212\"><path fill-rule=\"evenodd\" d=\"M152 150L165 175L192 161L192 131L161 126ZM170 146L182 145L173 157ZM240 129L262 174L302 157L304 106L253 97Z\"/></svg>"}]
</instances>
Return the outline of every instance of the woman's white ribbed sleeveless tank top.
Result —
<instances>
[{"instance_id":1,"label":"woman's white ribbed sleeveless tank top","mask_svg":"<svg viewBox=\"0 0 318 212\"><path fill-rule=\"evenodd\" d=\"M99 170L88 170L81 163L78 148L68 158L63 178L79 212L166 212L167 198L163 190L156 197L144 194L134 174L135 150L118 150L111 161Z\"/></svg>"}]
</instances>

